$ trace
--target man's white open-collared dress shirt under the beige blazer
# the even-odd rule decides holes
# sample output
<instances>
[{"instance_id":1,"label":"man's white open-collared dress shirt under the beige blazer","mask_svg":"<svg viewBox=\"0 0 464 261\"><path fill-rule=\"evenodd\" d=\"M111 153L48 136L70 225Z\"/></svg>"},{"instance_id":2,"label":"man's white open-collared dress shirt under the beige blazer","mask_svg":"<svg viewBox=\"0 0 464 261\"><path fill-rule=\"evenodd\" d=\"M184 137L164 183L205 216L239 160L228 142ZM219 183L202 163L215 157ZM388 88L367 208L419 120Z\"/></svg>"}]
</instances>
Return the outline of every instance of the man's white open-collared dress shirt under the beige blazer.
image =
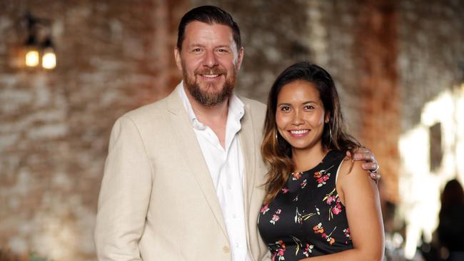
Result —
<instances>
[{"instance_id":1,"label":"man's white open-collared dress shirt under the beige blazer","mask_svg":"<svg viewBox=\"0 0 464 261\"><path fill-rule=\"evenodd\" d=\"M216 195L226 223L231 257L233 261L251 260L248 254L243 210L243 153L238 140L240 120L245 113L243 103L235 94L228 100L225 148L211 128L203 125L195 116L183 81L177 87L178 93L191 120L193 131L200 144L201 152L208 165Z\"/></svg>"}]
</instances>

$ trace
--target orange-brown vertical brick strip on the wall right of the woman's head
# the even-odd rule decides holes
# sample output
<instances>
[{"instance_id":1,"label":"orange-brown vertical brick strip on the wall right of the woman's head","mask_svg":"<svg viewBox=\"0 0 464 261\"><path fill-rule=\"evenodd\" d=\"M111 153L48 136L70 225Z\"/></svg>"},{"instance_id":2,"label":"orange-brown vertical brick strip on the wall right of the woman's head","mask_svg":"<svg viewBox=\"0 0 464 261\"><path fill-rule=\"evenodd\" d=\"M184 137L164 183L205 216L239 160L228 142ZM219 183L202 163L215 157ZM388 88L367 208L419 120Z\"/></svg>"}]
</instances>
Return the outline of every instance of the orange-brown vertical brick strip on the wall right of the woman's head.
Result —
<instances>
[{"instance_id":1,"label":"orange-brown vertical brick strip on the wall right of the woman's head","mask_svg":"<svg viewBox=\"0 0 464 261\"><path fill-rule=\"evenodd\" d=\"M398 203L400 137L397 1L359 1L356 63L360 71L360 138L382 165L383 196Z\"/></svg>"}]
</instances>

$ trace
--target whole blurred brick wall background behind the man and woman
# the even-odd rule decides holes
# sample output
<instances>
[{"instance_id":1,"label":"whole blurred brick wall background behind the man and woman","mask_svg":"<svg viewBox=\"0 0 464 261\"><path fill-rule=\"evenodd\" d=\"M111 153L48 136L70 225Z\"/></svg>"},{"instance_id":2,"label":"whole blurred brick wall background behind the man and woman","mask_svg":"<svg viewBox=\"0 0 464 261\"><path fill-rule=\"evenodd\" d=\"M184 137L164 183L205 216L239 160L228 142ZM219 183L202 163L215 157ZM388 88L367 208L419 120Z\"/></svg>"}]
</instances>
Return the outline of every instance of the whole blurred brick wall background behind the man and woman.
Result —
<instances>
[{"instance_id":1,"label":"whole blurred brick wall background behind the man and woman","mask_svg":"<svg viewBox=\"0 0 464 261\"><path fill-rule=\"evenodd\" d=\"M180 81L178 22L203 4L241 28L239 94L265 102L301 60L335 78L380 164L385 260L448 257L435 230L445 183L464 181L464 1L0 0L0 260L96 260L111 126Z\"/></svg>"}]
</instances>

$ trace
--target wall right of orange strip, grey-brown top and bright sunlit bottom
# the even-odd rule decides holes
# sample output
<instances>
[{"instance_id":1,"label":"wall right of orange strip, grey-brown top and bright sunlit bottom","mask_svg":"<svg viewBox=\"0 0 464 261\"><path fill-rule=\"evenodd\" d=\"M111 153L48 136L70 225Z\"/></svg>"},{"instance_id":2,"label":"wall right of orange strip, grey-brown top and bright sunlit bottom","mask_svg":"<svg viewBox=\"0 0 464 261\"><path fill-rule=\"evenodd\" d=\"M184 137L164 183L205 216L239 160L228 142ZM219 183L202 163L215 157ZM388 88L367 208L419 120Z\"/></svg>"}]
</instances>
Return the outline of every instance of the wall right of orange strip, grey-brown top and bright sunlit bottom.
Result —
<instances>
[{"instance_id":1,"label":"wall right of orange strip, grey-brown top and bright sunlit bottom","mask_svg":"<svg viewBox=\"0 0 464 261\"><path fill-rule=\"evenodd\" d=\"M432 240L445 183L464 181L464 2L399 1L398 9L398 185L412 258L421 238Z\"/></svg>"}]
</instances>

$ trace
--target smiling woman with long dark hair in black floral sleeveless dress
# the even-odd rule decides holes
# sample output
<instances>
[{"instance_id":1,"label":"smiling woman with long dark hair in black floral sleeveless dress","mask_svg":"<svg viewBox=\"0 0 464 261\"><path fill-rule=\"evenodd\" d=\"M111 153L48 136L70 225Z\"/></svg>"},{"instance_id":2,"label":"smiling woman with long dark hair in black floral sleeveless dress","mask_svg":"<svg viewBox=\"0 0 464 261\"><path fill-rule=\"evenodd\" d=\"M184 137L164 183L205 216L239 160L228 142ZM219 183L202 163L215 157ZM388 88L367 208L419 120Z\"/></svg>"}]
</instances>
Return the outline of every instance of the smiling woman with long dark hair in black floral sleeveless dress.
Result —
<instances>
[{"instance_id":1,"label":"smiling woman with long dark hair in black floral sleeveless dress","mask_svg":"<svg viewBox=\"0 0 464 261\"><path fill-rule=\"evenodd\" d=\"M323 68L286 68L268 97L262 145L271 167L258 228L272 260L382 260L375 182L351 160L338 94ZM353 155L353 153L351 153Z\"/></svg>"}]
</instances>

